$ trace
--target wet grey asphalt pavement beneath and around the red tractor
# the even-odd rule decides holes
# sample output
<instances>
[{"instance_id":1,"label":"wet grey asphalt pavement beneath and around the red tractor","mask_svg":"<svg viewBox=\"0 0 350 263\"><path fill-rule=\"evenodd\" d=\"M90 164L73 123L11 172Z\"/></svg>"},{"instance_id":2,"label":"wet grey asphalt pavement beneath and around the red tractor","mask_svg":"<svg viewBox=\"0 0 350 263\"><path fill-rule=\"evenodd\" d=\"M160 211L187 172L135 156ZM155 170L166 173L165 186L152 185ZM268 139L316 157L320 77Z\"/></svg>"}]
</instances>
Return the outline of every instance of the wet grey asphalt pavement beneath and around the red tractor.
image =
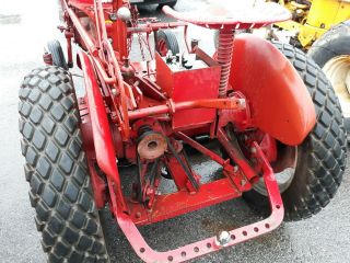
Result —
<instances>
[{"instance_id":1,"label":"wet grey asphalt pavement beneath and around the red tractor","mask_svg":"<svg viewBox=\"0 0 350 263\"><path fill-rule=\"evenodd\" d=\"M24 180L24 159L18 132L18 91L23 77L42 65L47 39L60 37L57 1L1 1L0 5L0 262L45 262L34 210ZM192 10L209 1L179 0L176 9ZM144 16L164 19L155 7L142 8ZM210 33L194 34L200 45L212 50ZM196 37L197 37L196 36ZM197 171L211 173L215 167L196 157ZM284 222L276 231L191 262L350 262L350 176L332 202L316 216L299 222ZM141 262L107 210L102 211L112 262ZM152 248L165 251L259 220L242 199L140 228Z\"/></svg>"}]
</instances>

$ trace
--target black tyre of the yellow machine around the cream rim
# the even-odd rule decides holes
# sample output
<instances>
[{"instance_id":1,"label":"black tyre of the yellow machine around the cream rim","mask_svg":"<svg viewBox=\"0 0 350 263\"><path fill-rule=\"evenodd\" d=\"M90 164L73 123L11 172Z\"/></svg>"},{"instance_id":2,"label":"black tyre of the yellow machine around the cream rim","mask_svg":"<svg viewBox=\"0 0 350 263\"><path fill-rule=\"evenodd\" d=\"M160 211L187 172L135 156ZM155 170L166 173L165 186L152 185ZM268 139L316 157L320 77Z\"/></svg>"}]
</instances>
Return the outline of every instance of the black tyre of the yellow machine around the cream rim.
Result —
<instances>
[{"instance_id":1,"label":"black tyre of the yellow machine around the cream rim","mask_svg":"<svg viewBox=\"0 0 350 263\"><path fill-rule=\"evenodd\" d=\"M319 37L310 48L307 56L323 68L330 59L350 55L350 20L342 22ZM350 134L350 117L346 118L346 128ZM348 135L349 136L349 135ZM348 142L350 138L348 137Z\"/></svg>"}]
</instances>

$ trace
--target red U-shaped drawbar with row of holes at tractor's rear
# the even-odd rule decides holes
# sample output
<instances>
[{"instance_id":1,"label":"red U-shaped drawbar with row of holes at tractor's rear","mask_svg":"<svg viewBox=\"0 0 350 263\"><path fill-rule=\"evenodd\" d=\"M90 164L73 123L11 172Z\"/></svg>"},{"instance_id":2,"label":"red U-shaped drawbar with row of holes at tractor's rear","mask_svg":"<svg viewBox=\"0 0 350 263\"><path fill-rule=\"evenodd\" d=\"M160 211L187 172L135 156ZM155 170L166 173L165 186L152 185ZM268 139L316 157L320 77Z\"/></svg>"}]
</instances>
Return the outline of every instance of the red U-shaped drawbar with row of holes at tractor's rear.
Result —
<instances>
[{"instance_id":1,"label":"red U-shaped drawbar with row of holes at tractor's rear","mask_svg":"<svg viewBox=\"0 0 350 263\"><path fill-rule=\"evenodd\" d=\"M226 247L245 242L249 239L268 233L273 229L276 229L283 220L283 215L284 215L283 203L282 203L278 184L276 182L275 174L271 167L269 165L259 146L255 144L255 147L257 149L256 158L259 160L264 170L262 178L264 178L265 185L268 192L268 197L270 201L271 215L269 218L255 224L250 224L245 227L241 227L238 229L231 230L230 231L231 239L224 245L220 245L217 237L211 237L211 238L208 238L191 244L187 244L185 247L182 247L172 251L158 252L152 250L148 245L148 243L145 242L145 240L137 229L130 216L121 213L116 207L113 207L113 214L115 215L119 227L126 235L127 239L129 240L130 244L132 245L137 254L145 262L184 262L207 253L221 250ZM223 190L224 193L226 194L230 193L230 188L226 188L226 190L220 188L220 190L221 191ZM232 193L231 198L232 197L236 197L234 193ZM199 196L199 198L203 199L201 198L201 196ZM162 208L166 209L166 207L170 207L172 203L166 203L166 205L167 206L162 206Z\"/></svg>"}]
</instances>

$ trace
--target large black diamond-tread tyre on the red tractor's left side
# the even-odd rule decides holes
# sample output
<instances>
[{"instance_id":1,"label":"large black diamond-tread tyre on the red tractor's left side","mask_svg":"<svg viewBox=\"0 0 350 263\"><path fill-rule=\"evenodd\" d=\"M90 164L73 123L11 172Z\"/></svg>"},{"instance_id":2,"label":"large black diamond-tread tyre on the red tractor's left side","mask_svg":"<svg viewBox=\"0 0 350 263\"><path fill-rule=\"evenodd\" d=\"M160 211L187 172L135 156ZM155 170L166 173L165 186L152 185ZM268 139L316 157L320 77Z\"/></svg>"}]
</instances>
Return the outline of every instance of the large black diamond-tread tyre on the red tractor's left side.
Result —
<instances>
[{"instance_id":1,"label":"large black diamond-tread tyre on the red tractor's left side","mask_svg":"<svg viewBox=\"0 0 350 263\"><path fill-rule=\"evenodd\" d=\"M108 262L68 71L33 70L20 89L21 148L48 262Z\"/></svg>"}]
</instances>

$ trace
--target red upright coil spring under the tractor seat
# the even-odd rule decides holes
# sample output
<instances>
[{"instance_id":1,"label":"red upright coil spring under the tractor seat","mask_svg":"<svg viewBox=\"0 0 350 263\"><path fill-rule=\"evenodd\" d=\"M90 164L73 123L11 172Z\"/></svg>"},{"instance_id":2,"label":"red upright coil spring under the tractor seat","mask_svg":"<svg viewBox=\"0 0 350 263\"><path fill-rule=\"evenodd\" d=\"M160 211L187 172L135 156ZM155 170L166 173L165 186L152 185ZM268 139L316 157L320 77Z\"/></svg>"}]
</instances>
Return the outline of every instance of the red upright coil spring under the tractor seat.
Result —
<instances>
[{"instance_id":1,"label":"red upright coil spring under the tractor seat","mask_svg":"<svg viewBox=\"0 0 350 263\"><path fill-rule=\"evenodd\" d=\"M219 32L218 62L221 65L221 76L219 85L220 98L226 96L233 53L233 31Z\"/></svg>"}]
</instances>

